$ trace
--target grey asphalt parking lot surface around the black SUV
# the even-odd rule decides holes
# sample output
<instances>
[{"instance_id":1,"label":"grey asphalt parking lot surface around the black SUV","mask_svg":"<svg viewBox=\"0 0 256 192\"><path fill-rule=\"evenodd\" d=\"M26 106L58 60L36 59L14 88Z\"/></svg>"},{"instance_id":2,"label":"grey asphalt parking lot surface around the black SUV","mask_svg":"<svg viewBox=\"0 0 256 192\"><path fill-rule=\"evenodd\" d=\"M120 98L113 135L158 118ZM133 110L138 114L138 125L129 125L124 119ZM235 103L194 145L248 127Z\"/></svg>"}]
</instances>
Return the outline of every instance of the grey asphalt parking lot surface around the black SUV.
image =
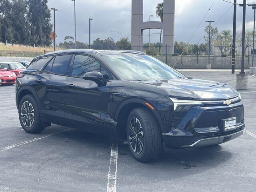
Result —
<instances>
[{"instance_id":1,"label":"grey asphalt parking lot surface around the black SUV","mask_svg":"<svg viewBox=\"0 0 256 192\"><path fill-rule=\"evenodd\" d=\"M188 77L235 86L230 70L180 70ZM248 71L246 71L248 72ZM238 71L236 71L238 73ZM127 192L256 191L256 76L239 90L246 130L236 140L189 149L165 149L143 164L128 144L52 125L40 134L20 126L15 85L0 86L0 191Z\"/></svg>"}]
</instances>

